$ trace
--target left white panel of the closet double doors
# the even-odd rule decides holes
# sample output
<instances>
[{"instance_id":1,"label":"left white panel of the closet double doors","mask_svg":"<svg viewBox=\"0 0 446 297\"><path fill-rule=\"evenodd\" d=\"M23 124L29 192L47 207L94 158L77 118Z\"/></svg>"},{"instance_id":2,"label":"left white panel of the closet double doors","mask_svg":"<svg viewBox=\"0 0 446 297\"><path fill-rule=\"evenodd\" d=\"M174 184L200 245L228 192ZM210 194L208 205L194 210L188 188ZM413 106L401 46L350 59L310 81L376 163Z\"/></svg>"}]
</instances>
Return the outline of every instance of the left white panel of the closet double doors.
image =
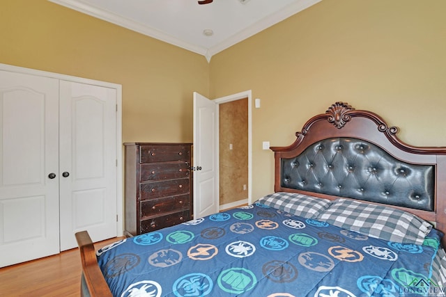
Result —
<instances>
[{"instance_id":1,"label":"left white panel of the closet double doors","mask_svg":"<svg viewBox=\"0 0 446 297\"><path fill-rule=\"evenodd\" d=\"M58 83L0 71L0 266L59 252Z\"/></svg>"}]
</instances>

